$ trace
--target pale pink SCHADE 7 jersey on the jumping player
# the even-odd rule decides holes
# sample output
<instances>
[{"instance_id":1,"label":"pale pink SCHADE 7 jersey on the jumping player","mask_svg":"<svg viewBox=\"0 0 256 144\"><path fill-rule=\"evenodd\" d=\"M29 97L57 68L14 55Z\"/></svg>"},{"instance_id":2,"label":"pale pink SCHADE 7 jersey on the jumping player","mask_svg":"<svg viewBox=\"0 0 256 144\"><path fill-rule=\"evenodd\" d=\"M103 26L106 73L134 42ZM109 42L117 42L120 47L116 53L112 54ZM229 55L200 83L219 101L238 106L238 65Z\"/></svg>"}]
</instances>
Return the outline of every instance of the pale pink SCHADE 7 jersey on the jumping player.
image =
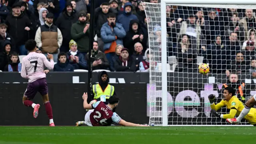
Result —
<instances>
[{"instance_id":1,"label":"pale pink SCHADE 7 jersey on the jumping player","mask_svg":"<svg viewBox=\"0 0 256 144\"><path fill-rule=\"evenodd\" d=\"M47 60L44 54L38 54L36 52L30 52L27 56L22 58L21 76L27 78L28 82L34 82L40 78L45 78L44 68L47 67L50 70L54 67L54 61Z\"/></svg>"}]
</instances>

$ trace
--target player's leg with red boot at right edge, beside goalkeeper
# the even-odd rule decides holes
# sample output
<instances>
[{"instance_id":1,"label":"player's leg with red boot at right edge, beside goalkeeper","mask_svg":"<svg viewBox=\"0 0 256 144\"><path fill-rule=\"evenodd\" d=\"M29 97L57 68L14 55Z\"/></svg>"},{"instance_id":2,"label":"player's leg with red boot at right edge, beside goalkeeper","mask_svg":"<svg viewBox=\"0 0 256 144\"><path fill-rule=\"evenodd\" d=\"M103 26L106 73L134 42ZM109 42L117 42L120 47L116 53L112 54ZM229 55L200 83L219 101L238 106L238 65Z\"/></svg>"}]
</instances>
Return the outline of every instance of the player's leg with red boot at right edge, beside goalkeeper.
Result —
<instances>
[{"instance_id":1,"label":"player's leg with red boot at right edge, beside goalkeeper","mask_svg":"<svg viewBox=\"0 0 256 144\"><path fill-rule=\"evenodd\" d=\"M244 109L237 118L227 118L227 122L231 124L239 124L244 116L246 116L250 112L250 109L254 105L256 105L256 94L246 102Z\"/></svg>"}]
</instances>

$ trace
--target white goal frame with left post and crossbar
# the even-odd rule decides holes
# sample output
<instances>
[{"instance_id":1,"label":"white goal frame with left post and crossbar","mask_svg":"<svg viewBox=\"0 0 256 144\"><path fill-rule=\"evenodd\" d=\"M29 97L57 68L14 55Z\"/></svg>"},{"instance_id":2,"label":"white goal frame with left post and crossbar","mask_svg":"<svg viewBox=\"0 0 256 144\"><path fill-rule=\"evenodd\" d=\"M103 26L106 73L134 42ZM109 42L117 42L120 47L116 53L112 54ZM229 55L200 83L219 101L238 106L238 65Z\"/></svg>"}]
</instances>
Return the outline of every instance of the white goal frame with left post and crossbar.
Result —
<instances>
[{"instance_id":1,"label":"white goal frame with left post and crossbar","mask_svg":"<svg viewBox=\"0 0 256 144\"><path fill-rule=\"evenodd\" d=\"M166 4L173 5L183 5L183 6L193 6L193 5L212 5L212 6L220 6L222 8L231 8L234 5L239 5L238 7L244 7L248 5L248 8L256 7L256 2L245 0L215 0L214 4L212 1L207 0L161 0L160 9L161 9L161 63L162 63L162 126L170 126L168 125L168 83L167 83L167 27L166 27ZM209 125L173 125L173 126L209 126ZM214 126L214 125L210 125ZM218 125L217 125L218 126ZM235 126L251 126L251 125L235 125Z\"/></svg>"}]
</instances>

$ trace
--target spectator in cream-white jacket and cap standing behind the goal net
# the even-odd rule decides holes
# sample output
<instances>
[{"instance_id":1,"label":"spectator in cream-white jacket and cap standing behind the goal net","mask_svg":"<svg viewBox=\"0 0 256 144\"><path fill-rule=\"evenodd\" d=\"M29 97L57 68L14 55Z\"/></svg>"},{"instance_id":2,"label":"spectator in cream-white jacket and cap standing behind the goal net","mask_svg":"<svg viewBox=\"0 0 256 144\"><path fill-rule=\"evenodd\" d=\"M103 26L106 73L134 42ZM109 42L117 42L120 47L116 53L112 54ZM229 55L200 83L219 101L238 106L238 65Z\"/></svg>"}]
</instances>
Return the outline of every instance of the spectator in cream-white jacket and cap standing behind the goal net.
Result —
<instances>
[{"instance_id":1,"label":"spectator in cream-white jacket and cap standing behind the goal net","mask_svg":"<svg viewBox=\"0 0 256 144\"><path fill-rule=\"evenodd\" d=\"M181 34L186 34L190 36L191 38L191 48L192 50L206 50L206 39L204 37L204 34L202 33L202 30L204 30L204 21L201 20L201 23L199 22L199 19L196 20L196 16L194 16L193 13L190 13L188 16L188 20L183 21L180 28L180 34L178 34L178 37L180 37ZM201 48L200 48L201 46Z\"/></svg>"}]
</instances>

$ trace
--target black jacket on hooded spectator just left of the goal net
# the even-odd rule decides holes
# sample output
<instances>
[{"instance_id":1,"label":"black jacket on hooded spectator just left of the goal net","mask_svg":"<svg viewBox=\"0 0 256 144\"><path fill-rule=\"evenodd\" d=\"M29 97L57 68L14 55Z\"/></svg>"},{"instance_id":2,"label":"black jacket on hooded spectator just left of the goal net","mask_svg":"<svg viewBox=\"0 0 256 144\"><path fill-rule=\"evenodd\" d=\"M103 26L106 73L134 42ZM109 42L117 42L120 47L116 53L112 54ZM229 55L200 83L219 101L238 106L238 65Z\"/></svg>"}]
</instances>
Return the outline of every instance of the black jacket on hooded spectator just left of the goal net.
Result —
<instances>
[{"instance_id":1,"label":"black jacket on hooded spectator just left of the goal net","mask_svg":"<svg viewBox=\"0 0 256 144\"><path fill-rule=\"evenodd\" d=\"M138 24L138 30L137 30L137 32L134 32L134 30L132 30L132 24L134 24L134 23L137 23ZM143 35L143 40L142 40L142 42L140 41L140 37L138 37L138 38L136 38L136 39L134 39L134 40L132 40L132 37L134 36L134 35ZM143 46L143 49L146 49L146 45L147 45L147 36L146 36L147 34L144 34L143 32L142 32L142 30L141 30L141 28L140 28L140 22L138 21L138 20L131 20L130 21L130 26L129 26L129 31L128 32L126 32L126 36L124 37L124 39L123 39L123 42L124 42L124 47L125 48L128 48L128 50L129 50L129 54L130 55L132 55L134 52L135 52L135 50L134 50L134 44L136 43L136 42L140 42L141 44L142 44L142 46Z\"/></svg>"}]
</instances>

